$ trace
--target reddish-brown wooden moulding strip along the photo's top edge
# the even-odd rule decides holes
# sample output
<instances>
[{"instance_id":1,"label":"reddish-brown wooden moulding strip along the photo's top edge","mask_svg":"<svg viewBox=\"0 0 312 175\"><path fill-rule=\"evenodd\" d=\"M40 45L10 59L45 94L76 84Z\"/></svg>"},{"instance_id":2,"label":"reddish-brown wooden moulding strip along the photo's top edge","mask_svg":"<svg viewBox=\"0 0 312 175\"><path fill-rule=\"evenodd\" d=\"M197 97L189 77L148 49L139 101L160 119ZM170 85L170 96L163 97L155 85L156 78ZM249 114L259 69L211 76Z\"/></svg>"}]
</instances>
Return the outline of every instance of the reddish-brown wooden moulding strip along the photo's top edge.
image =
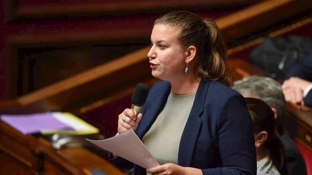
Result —
<instances>
[{"instance_id":1,"label":"reddish-brown wooden moulding strip along the photo's top edge","mask_svg":"<svg viewBox=\"0 0 312 175\"><path fill-rule=\"evenodd\" d=\"M13 1L13 0L11 0ZM62 17L62 16L86 16L86 15L105 15L116 13L137 13L172 8L194 9L198 7L209 7L232 4L251 4L260 0L123 0L123 1L70 1L70 2L28 2L23 1L22 5L13 9L14 18L29 17Z\"/></svg>"}]
</instances>

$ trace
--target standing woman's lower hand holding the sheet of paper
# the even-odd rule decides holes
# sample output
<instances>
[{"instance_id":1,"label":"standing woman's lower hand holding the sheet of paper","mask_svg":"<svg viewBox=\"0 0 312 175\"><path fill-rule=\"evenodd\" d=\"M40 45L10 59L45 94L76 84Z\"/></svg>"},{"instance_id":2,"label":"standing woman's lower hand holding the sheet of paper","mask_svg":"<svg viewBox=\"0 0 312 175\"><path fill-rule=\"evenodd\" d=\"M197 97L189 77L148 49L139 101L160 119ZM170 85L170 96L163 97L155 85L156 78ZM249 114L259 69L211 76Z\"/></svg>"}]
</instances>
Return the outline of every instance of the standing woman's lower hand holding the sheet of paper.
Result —
<instances>
[{"instance_id":1,"label":"standing woman's lower hand holding the sheet of paper","mask_svg":"<svg viewBox=\"0 0 312 175\"><path fill-rule=\"evenodd\" d=\"M148 173L152 175L186 175L186 168L173 163L166 163L154 168L149 168Z\"/></svg>"}]
</instances>

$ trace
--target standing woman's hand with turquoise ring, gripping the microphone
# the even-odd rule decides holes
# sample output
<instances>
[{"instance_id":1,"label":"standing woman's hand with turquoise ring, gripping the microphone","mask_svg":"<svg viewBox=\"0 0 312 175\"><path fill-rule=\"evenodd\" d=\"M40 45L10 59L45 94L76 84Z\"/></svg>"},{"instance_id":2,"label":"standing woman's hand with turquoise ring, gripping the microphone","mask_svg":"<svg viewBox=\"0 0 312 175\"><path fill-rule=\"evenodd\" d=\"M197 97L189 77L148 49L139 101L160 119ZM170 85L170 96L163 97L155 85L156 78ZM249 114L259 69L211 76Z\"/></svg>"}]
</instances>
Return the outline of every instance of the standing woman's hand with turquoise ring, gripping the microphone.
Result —
<instances>
[{"instance_id":1,"label":"standing woman's hand with turquoise ring, gripping the microphone","mask_svg":"<svg viewBox=\"0 0 312 175\"><path fill-rule=\"evenodd\" d=\"M124 118L124 121L123 121ZM137 117L135 117L134 112L131 109L125 109L118 116L118 134L121 134L129 129L136 130L138 127L139 121L142 119L142 114L139 113Z\"/></svg>"}]
</instances>

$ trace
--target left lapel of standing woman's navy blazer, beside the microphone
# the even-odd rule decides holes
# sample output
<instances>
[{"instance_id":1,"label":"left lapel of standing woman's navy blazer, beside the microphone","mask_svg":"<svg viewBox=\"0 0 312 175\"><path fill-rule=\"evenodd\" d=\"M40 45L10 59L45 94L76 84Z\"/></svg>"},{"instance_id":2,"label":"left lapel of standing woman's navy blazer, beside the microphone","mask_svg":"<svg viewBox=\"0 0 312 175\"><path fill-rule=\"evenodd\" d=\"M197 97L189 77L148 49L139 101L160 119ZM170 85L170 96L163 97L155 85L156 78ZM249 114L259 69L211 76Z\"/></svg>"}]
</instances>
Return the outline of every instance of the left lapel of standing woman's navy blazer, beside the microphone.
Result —
<instances>
[{"instance_id":1,"label":"left lapel of standing woman's navy blazer, beside the microphone","mask_svg":"<svg viewBox=\"0 0 312 175\"><path fill-rule=\"evenodd\" d=\"M150 103L148 110L145 112L142 120L140 121L141 124L137 135L141 140L143 139L143 136L147 133L147 131L151 128L158 114L161 112L167 102L168 96L171 91L170 83L168 82L168 85L163 88L163 93L157 94L158 98L155 99L154 102Z\"/></svg>"}]
</instances>

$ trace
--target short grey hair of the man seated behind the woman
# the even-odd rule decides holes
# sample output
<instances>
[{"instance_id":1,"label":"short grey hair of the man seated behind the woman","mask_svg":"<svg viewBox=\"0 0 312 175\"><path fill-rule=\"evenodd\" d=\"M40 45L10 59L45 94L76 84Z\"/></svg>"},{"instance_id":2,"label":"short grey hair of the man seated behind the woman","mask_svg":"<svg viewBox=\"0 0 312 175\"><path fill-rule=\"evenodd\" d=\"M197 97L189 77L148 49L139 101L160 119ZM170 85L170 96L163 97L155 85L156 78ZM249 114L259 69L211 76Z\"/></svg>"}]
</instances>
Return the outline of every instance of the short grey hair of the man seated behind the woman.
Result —
<instances>
[{"instance_id":1,"label":"short grey hair of the man seated behind the woman","mask_svg":"<svg viewBox=\"0 0 312 175\"><path fill-rule=\"evenodd\" d=\"M235 81L233 89L243 95L252 95L277 110L277 116L285 113L285 97L280 83L269 77L250 76Z\"/></svg>"}]
</instances>

